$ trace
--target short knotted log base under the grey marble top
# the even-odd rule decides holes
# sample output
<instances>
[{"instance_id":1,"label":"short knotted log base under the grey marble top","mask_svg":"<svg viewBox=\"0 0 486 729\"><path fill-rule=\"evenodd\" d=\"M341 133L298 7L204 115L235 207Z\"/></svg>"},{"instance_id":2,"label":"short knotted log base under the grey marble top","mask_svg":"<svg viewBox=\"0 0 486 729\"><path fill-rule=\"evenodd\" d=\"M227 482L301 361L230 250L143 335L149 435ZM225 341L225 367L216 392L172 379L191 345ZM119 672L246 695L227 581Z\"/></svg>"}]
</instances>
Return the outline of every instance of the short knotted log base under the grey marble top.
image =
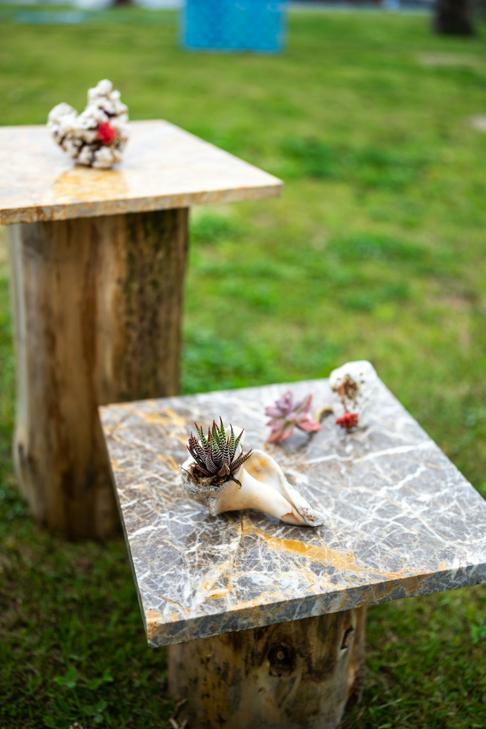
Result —
<instances>
[{"instance_id":1,"label":"short knotted log base under the grey marble top","mask_svg":"<svg viewBox=\"0 0 486 729\"><path fill-rule=\"evenodd\" d=\"M334 729L364 685L366 608L169 647L187 729Z\"/></svg>"}]
</instances>

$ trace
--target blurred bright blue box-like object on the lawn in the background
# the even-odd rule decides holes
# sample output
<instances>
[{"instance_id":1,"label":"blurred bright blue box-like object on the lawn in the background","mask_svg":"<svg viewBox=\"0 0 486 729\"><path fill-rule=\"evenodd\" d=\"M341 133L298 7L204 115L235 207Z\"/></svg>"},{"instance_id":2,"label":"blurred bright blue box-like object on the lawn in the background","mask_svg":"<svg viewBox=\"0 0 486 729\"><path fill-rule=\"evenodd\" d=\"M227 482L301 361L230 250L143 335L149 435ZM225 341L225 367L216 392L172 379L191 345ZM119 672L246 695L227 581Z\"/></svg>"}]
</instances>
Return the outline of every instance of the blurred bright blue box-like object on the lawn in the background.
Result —
<instances>
[{"instance_id":1,"label":"blurred bright blue box-like object on the lawn in the background","mask_svg":"<svg viewBox=\"0 0 486 729\"><path fill-rule=\"evenodd\" d=\"M194 50L276 53L285 26L286 0L186 0L181 41Z\"/></svg>"}]
</instances>

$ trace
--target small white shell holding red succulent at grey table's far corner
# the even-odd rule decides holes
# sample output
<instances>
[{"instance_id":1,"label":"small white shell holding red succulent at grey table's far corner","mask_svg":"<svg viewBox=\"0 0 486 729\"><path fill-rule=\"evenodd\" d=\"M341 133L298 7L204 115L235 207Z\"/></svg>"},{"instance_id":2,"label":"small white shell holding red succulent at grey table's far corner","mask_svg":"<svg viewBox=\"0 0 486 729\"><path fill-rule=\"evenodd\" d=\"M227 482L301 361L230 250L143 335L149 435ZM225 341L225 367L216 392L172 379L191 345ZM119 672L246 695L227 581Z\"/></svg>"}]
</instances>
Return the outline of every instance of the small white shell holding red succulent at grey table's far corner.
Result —
<instances>
[{"instance_id":1,"label":"small white shell holding red succulent at grey table's far corner","mask_svg":"<svg viewBox=\"0 0 486 729\"><path fill-rule=\"evenodd\" d=\"M378 395L378 375L370 362L347 362L329 375L336 424L350 431L369 425Z\"/></svg>"}]
</instances>

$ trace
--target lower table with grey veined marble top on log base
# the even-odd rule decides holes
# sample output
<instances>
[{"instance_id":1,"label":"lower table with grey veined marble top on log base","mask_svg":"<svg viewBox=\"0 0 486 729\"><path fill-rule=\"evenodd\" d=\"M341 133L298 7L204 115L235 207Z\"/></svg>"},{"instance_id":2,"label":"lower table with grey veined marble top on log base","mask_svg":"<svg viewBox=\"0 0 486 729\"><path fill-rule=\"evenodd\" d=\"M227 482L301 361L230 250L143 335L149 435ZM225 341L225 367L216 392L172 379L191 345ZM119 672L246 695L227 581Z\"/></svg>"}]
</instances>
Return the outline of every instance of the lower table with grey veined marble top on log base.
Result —
<instances>
[{"instance_id":1,"label":"lower table with grey veined marble top on log base","mask_svg":"<svg viewBox=\"0 0 486 729\"><path fill-rule=\"evenodd\" d=\"M333 729L361 696L365 610L486 582L486 502L380 383L367 429L269 444L266 405L315 380L100 408L147 640L187 729ZM194 421L246 430L323 526L211 516L181 490ZM453 504L453 508L451 507Z\"/></svg>"}]
</instances>

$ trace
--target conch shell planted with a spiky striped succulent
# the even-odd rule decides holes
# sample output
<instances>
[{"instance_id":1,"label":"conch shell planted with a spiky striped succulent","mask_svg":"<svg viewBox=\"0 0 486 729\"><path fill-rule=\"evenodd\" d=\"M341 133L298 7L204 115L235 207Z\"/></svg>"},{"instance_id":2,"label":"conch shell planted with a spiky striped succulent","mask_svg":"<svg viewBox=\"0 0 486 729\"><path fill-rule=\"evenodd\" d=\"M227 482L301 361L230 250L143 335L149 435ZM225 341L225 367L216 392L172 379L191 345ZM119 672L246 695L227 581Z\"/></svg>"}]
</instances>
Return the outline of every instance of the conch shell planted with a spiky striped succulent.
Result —
<instances>
[{"instance_id":1,"label":"conch shell planted with a spiky striped succulent","mask_svg":"<svg viewBox=\"0 0 486 729\"><path fill-rule=\"evenodd\" d=\"M208 507L213 516L224 511L255 509L294 526L319 526L324 515L313 510L290 485L278 463L264 451L243 453L245 432L238 437L223 421L208 429L196 425L199 441L191 433L191 454L179 467L184 494Z\"/></svg>"}]
</instances>

